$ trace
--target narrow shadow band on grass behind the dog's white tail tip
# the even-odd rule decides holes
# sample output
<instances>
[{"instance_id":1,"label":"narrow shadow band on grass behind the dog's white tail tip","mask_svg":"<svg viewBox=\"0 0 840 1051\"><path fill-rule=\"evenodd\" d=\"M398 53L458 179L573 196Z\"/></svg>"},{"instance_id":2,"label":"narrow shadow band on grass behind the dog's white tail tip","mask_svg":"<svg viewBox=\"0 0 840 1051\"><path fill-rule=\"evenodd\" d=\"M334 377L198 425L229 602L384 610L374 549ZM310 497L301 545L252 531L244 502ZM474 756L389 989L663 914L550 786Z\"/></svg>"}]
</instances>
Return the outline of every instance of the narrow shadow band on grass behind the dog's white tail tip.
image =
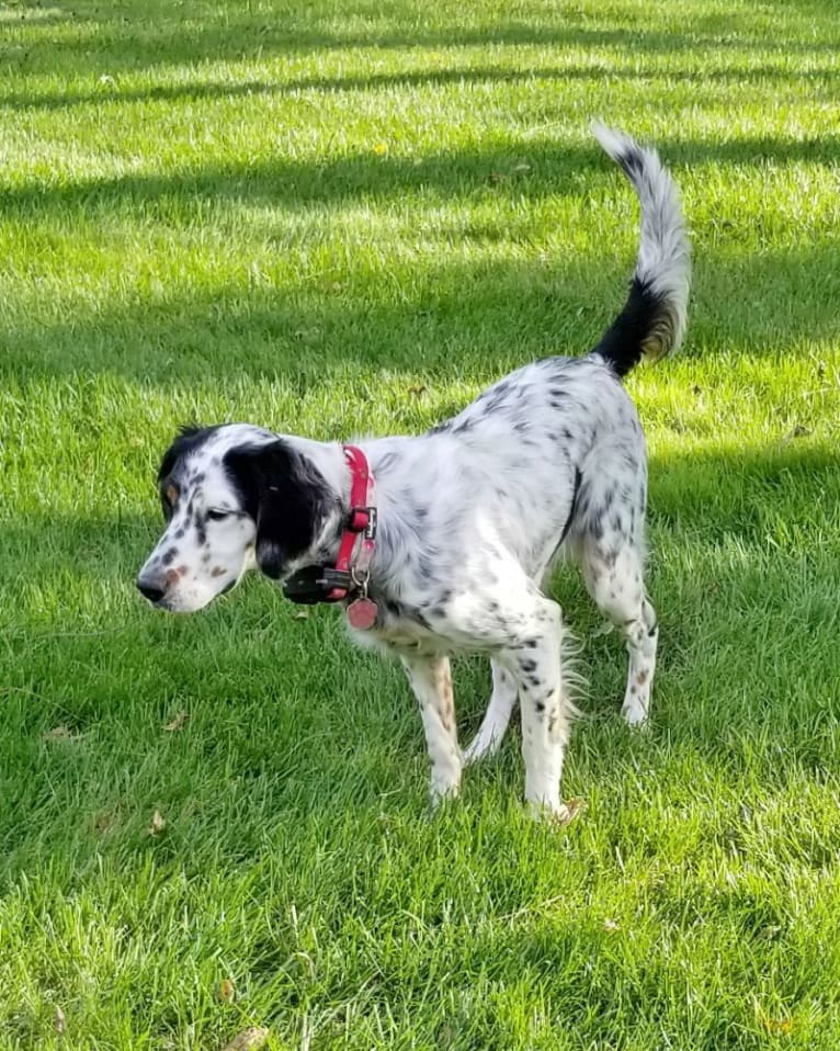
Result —
<instances>
[{"instance_id":1,"label":"narrow shadow band on grass behind the dog's white tail tip","mask_svg":"<svg viewBox=\"0 0 840 1051\"><path fill-rule=\"evenodd\" d=\"M760 136L731 142L660 139L657 148L673 168L704 163L756 165L806 160L835 165L840 159L840 136L784 139ZM527 171L517 170L526 160ZM431 191L447 197L495 190L506 194L513 183L518 196L538 199L560 192L569 180L588 184L614 172L594 144L578 146L547 137L488 140L466 150L442 150L419 157L379 156L370 152L323 161L277 156L239 162L205 163L161 174L97 178L76 183L0 183L4 218L63 217L78 212L82 218L143 210L171 218L191 216L200 203L235 201L249 205L299 206L378 201L409 191Z\"/></svg>"}]
</instances>

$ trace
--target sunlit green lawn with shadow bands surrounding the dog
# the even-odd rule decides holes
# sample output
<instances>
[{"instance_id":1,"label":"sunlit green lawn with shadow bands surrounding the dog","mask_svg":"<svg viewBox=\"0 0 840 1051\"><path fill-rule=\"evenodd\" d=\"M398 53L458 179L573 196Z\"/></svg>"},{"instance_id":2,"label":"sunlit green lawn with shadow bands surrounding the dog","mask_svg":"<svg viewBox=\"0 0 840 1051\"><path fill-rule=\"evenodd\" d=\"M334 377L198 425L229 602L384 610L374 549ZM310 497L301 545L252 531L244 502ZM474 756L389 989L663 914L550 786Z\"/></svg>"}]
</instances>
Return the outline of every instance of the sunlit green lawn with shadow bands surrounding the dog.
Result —
<instances>
[{"instance_id":1,"label":"sunlit green lawn with shadow bands surrounding the dog","mask_svg":"<svg viewBox=\"0 0 840 1051\"><path fill-rule=\"evenodd\" d=\"M832 0L0 3L0 1047L836 1051L838 54ZM560 575L586 812L524 816L512 733L430 820L334 611L144 608L157 460L586 351L637 237L594 116L693 228L684 354L629 381L652 725Z\"/></svg>"}]
</instances>

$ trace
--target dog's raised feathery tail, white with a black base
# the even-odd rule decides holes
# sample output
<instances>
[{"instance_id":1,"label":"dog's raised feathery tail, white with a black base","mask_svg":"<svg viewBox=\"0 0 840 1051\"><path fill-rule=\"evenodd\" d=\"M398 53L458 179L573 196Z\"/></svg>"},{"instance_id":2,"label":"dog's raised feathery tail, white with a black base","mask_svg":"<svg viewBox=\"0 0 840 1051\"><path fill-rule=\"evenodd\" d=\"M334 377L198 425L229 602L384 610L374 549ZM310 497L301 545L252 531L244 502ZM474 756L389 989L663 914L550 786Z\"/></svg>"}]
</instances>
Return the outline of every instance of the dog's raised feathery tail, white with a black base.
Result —
<instances>
[{"instance_id":1,"label":"dog's raised feathery tail, white with a black base","mask_svg":"<svg viewBox=\"0 0 840 1051\"><path fill-rule=\"evenodd\" d=\"M680 346L691 250L677 187L656 150L603 124L593 124L592 132L621 165L642 205L642 236L627 302L592 351L624 376L640 359L658 361Z\"/></svg>"}]
</instances>

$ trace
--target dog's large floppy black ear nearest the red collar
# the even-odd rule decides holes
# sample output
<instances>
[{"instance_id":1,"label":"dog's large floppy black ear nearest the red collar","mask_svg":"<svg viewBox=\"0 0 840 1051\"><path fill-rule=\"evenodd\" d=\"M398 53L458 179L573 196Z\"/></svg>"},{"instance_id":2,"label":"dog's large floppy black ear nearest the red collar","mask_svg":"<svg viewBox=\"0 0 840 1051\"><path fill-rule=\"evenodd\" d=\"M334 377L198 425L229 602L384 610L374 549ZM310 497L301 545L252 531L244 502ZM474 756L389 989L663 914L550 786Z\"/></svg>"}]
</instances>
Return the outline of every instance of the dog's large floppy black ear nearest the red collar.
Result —
<instances>
[{"instance_id":1,"label":"dog's large floppy black ear nearest the red collar","mask_svg":"<svg viewBox=\"0 0 840 1051\"><path fill-rule=\"evenodd\" d=\"M334 494L315 464L282 439L231 449L225 467L257 523L257 565L276 579L313 546Z\"/></svg>"}]
</instances>

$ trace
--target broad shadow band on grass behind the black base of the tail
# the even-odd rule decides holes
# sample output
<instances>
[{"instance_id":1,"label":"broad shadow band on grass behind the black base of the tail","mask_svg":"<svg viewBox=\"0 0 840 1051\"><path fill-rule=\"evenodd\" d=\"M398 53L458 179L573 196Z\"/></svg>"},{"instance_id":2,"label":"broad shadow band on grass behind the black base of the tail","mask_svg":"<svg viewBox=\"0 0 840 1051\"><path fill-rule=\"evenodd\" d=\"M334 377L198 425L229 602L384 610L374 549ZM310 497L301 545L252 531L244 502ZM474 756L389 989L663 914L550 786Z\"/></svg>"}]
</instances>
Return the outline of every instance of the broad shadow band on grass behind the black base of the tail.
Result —
<instances>
[{"instance_id":1,"label":"broad shadow band on grass behind the black base of the tail","mask_svg":"<svg viewBox=\"0 0 840 1051\"><path fill-rule=\"evenodd\" d=\"M467 226L455 236L492 247L504 230ZM839 262L831 248L704 260L686 353L724 338L727 352L771 357L832 339L826 296ZM357 405L348 407L364 414L386 397L376 381L383 370L388 383L423 376L433 387L464 375L487 383L537 358L587 352L620 309L631 269L632 258L611 270L592 258L441 261L407 275L397 295L393 281L383 285L375 274L363 274L356 289L352 275L344 285L337 281L342 275L325 273L292 294L249 287L243 276L192 297L139 300L100 313L68 307L60 323L7 315L0 341L13 352L2 371L24 386L91 374L198 391L243 377L279 380L302 396L349 380ZM397 426L417 427L418 419L431 426L461 407L425 404L394 405ZM291 421L262 422L293 429Z\"/></svg>"}]
</instances>

